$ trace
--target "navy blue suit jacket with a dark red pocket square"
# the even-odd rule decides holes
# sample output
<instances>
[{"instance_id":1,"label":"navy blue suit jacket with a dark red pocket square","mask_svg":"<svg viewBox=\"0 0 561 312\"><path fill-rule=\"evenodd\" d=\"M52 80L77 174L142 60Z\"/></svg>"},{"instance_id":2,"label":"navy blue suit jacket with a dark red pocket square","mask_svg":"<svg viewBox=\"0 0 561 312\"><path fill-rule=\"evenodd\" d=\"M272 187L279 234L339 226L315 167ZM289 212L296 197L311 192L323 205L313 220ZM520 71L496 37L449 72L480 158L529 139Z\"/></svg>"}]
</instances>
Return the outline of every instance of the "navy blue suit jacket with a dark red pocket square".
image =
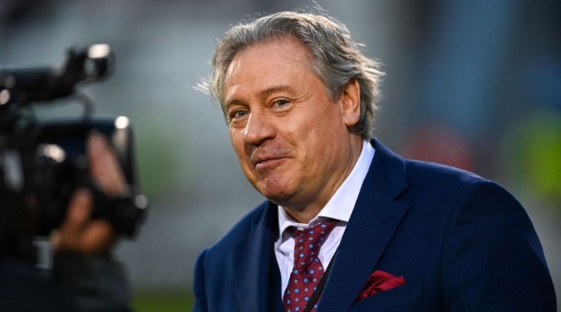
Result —
<instances>
[{"instance_id":1,"label":"navy blue suit jacket with a dark red pocket square","mask_svg":"<svg viewBox=\"0 0 561 312\"><path fill-rule=\"evenodd\" d=\"M542 246L510 193L372 144L376 153L318 312L555 311ZM194 311L283 311L277 237L276 205L265 202L204 250ZM355 302L374 270L406 284Z\"/></svg>"}]
</instances>

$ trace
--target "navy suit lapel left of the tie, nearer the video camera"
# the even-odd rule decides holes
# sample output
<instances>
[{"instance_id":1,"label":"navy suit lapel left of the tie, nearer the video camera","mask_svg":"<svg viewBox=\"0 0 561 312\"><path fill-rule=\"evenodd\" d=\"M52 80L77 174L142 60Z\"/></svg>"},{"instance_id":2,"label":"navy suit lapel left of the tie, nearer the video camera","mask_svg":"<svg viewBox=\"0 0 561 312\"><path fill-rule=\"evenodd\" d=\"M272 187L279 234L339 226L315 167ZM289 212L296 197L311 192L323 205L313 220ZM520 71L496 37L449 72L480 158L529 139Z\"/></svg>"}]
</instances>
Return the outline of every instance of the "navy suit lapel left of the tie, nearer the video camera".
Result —
<instances>
[{"instance_id":1,"label":"navy suit lapel left of the tie, nearer the video camera","mask_svg":"<svg viewBox=\"0 0 561 312\"><path fill-rule=\"evenodd\" d=\"M268 203L265 212L253 224L251 232L238 241L233 257L233 273L238 281L235 293L240 311L267 311L271 251L278 232L276 206ZM276 262L276 261L274 261ZM276 268L278 270L278 268Z\"/></svg>"}]
</instances>

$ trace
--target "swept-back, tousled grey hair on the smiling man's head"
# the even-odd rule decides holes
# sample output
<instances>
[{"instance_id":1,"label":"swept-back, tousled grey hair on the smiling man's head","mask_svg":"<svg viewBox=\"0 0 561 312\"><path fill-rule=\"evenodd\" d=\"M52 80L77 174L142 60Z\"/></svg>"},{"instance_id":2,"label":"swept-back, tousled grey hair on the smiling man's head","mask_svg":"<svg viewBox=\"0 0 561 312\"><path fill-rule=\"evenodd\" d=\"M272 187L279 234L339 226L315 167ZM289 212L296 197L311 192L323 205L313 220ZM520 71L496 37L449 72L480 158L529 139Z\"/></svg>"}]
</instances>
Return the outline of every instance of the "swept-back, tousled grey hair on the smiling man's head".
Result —
<instances>
[{"instance_id":1,"label":"swept-back, tousled grey hair on the smiling man's head","mask_svg":"<svg viewBox=\"0 0 561 312\"><path fill-rule=\"evenodd\" d=\"M236 53L248 46L262 44L279 37L293 37L308 49L312 70L322 80L332 101L356 79L360 86L360 119L357 131L366 140L372 138L374 111L380 98L380 80L384 75L380 64L359 50L344 24L328 15L306 12L277 12L233 26L218 43L213 72L202 85L220 101L224 114L224 76Z\"/></svg>"}]
</instances>

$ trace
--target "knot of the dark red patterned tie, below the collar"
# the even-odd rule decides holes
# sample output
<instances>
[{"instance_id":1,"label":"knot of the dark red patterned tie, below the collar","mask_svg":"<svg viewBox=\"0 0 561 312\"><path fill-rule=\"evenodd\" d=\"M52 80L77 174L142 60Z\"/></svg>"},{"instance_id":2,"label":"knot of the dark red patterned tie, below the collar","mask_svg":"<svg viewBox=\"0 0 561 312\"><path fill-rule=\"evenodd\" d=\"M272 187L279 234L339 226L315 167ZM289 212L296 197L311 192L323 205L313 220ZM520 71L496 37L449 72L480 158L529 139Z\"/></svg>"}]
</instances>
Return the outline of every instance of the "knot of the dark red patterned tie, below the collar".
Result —
<instances>
[{"instance_id":1,"label":"knot of the dark red patterned tie, below the collar","mask_svg":"<svg viewBox=\"0 0 561 312\"><path fill-rule=\"evenodd\" d=\"M337 220L329 219L314 227L293 227L294 235L294 268L306 268L312 262L319 262L318 254L321 245L337 224Z\"/></svg>"}]
</instances>

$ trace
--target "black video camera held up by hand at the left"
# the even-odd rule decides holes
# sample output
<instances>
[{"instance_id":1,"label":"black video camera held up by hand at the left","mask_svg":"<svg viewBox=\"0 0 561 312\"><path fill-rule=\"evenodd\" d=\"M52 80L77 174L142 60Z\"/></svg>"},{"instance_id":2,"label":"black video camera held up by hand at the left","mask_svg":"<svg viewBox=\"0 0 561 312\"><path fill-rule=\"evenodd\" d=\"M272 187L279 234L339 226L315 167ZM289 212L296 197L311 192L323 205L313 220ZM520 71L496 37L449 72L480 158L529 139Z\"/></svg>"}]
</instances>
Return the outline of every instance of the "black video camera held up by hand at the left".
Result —
<instances>
[{"instance_id":1,"label":"black video camera held up by hand at the left","mask_svg":"<svg viewBox=\"0 0 561 312\"><path fill-rule=\"evenodd\" d=\"M123 236L136 234L148 202L137 193L130 122L125 116L91 118L91 103L75 92L77 83L106 78L113 62L109 46L98 44L70 49L62 70L0 69L0 193L6 198L0 202L0 215L24 218L3 220L7 225L23 222L14 228L48 235L62 223L72 194L87 187L94 195L94 218L108 220ZM66 121L35 119L33 105L54 105L54 100L71 97L82 101L83 116ZM130 193L107 196L92 180L86 153L91 132L107 137Z\"/></svg>"}]
</instances>

